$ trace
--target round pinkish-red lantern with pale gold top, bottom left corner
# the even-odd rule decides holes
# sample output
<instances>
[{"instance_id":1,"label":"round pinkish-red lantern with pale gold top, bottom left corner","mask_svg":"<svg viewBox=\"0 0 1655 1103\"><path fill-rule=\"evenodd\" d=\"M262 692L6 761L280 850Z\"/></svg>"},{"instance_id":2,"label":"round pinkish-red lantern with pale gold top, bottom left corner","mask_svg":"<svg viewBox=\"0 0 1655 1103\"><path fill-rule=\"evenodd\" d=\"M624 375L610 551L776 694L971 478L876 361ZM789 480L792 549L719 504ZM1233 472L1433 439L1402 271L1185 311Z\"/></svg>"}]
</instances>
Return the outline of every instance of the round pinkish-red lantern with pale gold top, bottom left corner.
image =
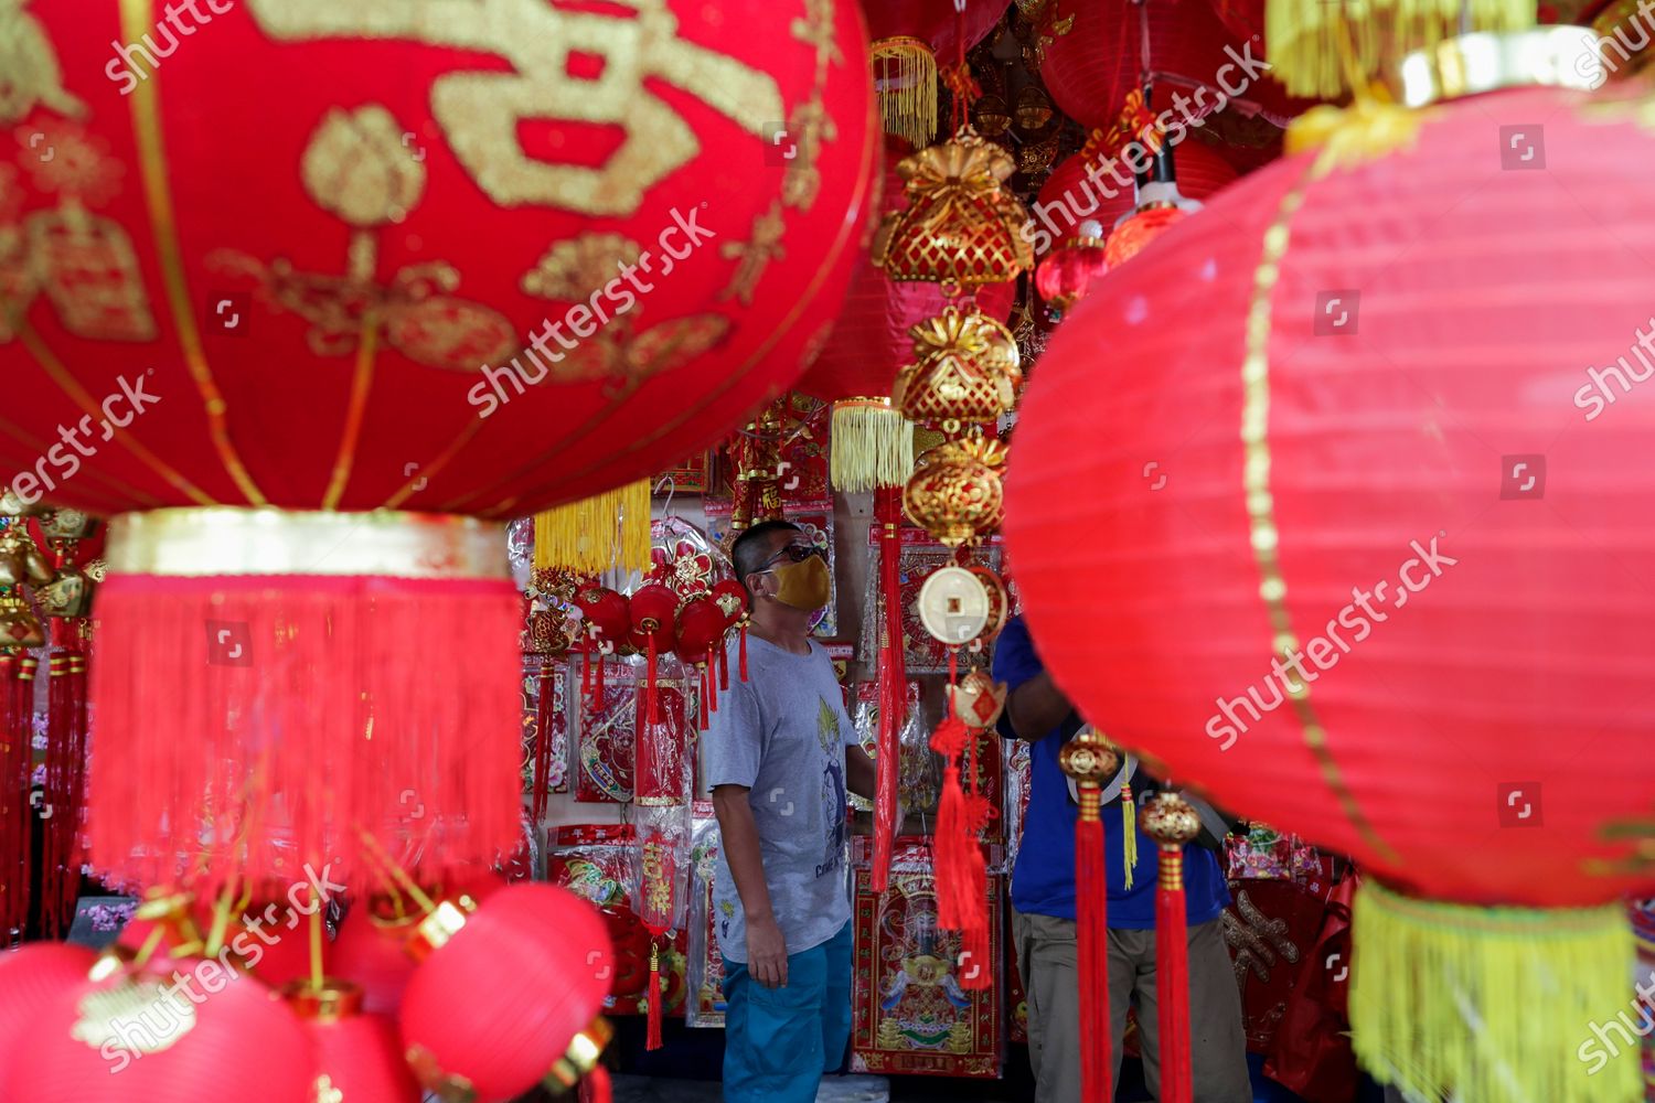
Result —
<instances>
[{"instance_id":1,"label":"round pinkish-red lantern with pale gold top, bottom left corner","mask_svg":"<svg viewBox=\"0 0 1655 1103\"><path fill-rule=\"evenodd\" d=\"M309 1103L313 1053L265 984L218 961L108 967L35 1009L15 1043L7 1100L199 1103L255 1085L265 1103ZM184 979L180 984L175 977Z\"/></svg>"}]
</instances>

